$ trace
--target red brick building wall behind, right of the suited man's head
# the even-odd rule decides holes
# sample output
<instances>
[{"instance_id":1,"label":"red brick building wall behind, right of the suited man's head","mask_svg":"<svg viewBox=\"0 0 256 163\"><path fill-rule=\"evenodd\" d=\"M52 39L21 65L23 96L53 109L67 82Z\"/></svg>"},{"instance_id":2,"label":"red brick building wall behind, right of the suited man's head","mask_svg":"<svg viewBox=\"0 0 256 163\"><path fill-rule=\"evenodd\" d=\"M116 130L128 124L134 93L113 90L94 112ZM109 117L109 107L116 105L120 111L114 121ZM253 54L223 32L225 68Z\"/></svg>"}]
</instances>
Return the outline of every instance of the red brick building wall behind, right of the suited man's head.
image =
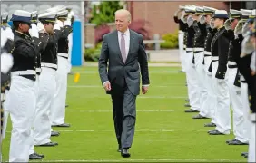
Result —
<instances>
[{"instance_id":1,"label":"red brick building wall behind, right of the suited man's head","mask_svg":"<svg viewBox=\"0 0 256 163\"><path fill-rule=\"evenodd\" d=\"M187 2L150 2L150 1L129 1L127 2L127 9L132 14L133 20L143 19L149 22L150 34L167 34L174 33L178 30L178 24L173 21L173 15L179 8L179 5L199 5L211 6L216 9L229 9L229 3L212 2L212 1L187 1ZM133 21L132 20L132 21Z\"/></svg>"}]
</instances>

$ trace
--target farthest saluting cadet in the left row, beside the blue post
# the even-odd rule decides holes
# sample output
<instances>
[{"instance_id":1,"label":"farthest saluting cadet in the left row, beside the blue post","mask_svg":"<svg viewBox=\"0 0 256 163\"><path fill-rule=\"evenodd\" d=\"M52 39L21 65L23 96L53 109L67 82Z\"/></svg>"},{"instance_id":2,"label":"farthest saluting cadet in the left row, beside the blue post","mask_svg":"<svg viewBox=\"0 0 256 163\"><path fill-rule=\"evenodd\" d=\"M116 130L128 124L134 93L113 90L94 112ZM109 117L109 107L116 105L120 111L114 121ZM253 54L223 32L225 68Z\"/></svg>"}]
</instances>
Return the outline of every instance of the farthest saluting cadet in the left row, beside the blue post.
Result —
<instances>
[{"instance_id":1,"label":"farthest saluting cadet in the left row, beside the blue post","mask_svg":"<svg viewBox=\"0 0 256 163\"><path fill-rule=\"evenodd\" d=\"M68 35L72 33L71 17L68 18L68 11L65 10L61 14L58 14L57 24L61 24L61 29L65 30L67 34L64 34L58 40L58 69L56 71L56 90L54 92L54 103L51 110L51 124L54 127L70 127L70 124L64 122L65 118L65 101L67 91L67 67L68 61Z\"/></svg>"}]
</instances>

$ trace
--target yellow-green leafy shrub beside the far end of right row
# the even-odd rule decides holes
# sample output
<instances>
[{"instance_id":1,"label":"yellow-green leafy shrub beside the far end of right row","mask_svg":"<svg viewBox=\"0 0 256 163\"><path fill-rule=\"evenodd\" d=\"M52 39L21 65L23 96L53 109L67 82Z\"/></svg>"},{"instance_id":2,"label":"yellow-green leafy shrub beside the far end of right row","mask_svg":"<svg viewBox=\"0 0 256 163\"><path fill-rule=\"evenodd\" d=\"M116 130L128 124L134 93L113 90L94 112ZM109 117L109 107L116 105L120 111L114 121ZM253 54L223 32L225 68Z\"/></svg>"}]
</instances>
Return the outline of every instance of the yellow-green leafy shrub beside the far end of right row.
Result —
<instances>
[{"instance_id":1,"label":"yellow-green leafy shrub beside the far end of right row","mask_svg":"<svg viewBox=\"0 0 256 163\"><path fill-rule=\"evenodd\" d=\"M164 34L162 35L162 40L165 40L165 43L161 43L162 49L176 49L178 48L178 33L174 34Z\"/></svg>"}]
</instances>

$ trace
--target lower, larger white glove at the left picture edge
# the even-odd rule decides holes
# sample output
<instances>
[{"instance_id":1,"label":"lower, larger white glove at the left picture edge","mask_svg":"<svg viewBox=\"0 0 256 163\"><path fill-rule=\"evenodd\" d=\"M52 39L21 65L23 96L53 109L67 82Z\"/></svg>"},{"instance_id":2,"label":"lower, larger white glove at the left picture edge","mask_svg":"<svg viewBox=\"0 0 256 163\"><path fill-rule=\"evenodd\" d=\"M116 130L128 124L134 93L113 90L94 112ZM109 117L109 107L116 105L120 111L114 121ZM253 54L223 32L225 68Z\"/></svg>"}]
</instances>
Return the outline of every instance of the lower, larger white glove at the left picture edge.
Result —
<instances>
[{"instance_id":1,"label":"lower, larger white glove at the left picture edge","mask_svg":"<svg viewBox=\"0 0 256 163\"><path fill-rule=\"evenodd\" d=\"M7 73L14 65L14 59L10 53L1 54L1 72Z\"/></svg>"}]
</instances>

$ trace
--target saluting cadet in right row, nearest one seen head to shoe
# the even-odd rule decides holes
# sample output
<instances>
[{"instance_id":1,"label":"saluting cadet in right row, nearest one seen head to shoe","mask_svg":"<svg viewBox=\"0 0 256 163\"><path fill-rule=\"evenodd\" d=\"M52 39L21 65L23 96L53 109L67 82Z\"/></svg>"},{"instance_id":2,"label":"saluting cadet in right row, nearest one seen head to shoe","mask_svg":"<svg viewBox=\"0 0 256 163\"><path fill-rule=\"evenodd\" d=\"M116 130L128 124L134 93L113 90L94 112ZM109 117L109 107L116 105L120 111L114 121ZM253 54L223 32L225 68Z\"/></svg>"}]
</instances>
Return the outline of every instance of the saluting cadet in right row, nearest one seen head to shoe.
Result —
<instances>
[{"instance_id":1,"label":"saluting cadet in right row, nearest one seen head to shoe","mask_svg":"<svg viewBox=\"0 0 256 163\"><path fill-rule=\"evenodd\" d=\"M229 53L228 53L228 87L230 92L231 108L233 113L233 131L234 139L226 141L229 145L244 145L248 144L249 134L247 123L243 115L243 107L241 103L241 84L238 66L234 62L231 53L237 53L233 50L232 41L235 35L241 36L241 11L230 9L230 18L225 22L225 28L227 30L227 37L230 40ZM238 29L240 28L240 29ZM235 31L235 33L234 33ZM241 47L241 45L239 45ZM241 51L239 51L241 52ZM238 53L239 53L238 52Z\"/></svg>"}]
</instances>

